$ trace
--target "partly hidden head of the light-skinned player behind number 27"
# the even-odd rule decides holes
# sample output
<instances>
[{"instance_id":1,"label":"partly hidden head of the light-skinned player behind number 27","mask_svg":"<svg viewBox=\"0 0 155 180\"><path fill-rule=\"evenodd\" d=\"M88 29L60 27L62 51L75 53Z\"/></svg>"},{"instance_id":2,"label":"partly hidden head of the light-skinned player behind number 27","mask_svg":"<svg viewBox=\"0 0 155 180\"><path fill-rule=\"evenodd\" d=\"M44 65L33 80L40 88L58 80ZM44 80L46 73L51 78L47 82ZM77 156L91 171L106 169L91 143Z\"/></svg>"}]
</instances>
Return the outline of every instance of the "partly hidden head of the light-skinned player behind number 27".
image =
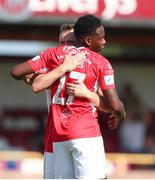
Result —
<instances>
[{"instance_id":1,"label":"partly hidden head of the light-skinned player behind number 27","mask_svg":"<svg viewBox=\"0 0 155 180\"><path fill-rule=\"evenodd\" d=\"M62 24L59 34L60 44L73 45L75 43L74 24Z\"/></svg>"}]
</instances>

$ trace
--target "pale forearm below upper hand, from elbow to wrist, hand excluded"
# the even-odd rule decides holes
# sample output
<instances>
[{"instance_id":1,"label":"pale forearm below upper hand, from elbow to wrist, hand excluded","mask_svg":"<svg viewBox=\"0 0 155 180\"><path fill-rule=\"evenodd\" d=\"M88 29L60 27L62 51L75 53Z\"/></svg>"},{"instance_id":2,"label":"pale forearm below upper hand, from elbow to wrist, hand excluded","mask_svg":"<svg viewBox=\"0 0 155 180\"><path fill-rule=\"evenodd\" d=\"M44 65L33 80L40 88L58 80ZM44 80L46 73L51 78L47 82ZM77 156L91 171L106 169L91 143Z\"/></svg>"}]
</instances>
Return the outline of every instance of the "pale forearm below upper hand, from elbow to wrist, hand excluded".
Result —
<instances>
[{"instance_id":1,"label":"pale forearm below upper hand, from elbow to wrist, hand excluded","mask_svg":"<svg viewBox=\"0 0 155 180\"><path fill-rule=\"evenodd\" d=\"M32 89L35 93L38 93L44 89L49 88L56 80L58 80L67 71L65 66L62 64L56 69L42 74L36 77L32 83Z\"/></svg>"}]
</instances>

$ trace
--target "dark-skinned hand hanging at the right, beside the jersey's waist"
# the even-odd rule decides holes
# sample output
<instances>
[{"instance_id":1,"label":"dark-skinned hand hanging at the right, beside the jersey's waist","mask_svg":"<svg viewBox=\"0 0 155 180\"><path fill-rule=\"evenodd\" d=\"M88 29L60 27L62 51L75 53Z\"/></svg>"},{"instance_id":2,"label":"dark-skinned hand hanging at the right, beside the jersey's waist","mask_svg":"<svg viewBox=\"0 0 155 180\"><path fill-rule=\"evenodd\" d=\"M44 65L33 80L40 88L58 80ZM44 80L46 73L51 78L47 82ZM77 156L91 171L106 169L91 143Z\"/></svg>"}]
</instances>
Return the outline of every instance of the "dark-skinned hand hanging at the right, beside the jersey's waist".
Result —
<instances>
[{"instance_id":1,"label":"dark-skinned hand hanging at the right, beside the jersey's waist","mask_svg":"<svg viewBox=\"0 0 155 180\"><path fill-rule=\"evenodd\" d=\"M108 117L108 126L110 129L116 129L118 124L119 124L120 118L112 113L110 114L110 116Z\"/></svg>"}]
</instances>

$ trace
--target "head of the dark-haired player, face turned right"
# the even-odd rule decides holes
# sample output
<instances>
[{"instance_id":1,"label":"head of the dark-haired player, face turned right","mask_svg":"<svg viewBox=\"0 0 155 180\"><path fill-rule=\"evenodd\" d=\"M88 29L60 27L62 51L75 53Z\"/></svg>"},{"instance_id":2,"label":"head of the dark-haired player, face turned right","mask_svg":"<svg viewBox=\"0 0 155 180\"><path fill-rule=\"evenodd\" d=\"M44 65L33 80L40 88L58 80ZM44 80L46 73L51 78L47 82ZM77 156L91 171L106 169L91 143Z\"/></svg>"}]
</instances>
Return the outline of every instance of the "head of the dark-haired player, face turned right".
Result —
<instances>
[{"instance_id":1,"label":"head of the dark-haired player, face turned right","mask_svg":"<svg viewBox=\"0 0 155 180\"><path fill-rule=\"evenodd\" d=\"M74 25L74 34L77 42L95 52L100 52L106 43L101 20L91 14L81 16L77 20Z\"/></svg>"}]
</instances>

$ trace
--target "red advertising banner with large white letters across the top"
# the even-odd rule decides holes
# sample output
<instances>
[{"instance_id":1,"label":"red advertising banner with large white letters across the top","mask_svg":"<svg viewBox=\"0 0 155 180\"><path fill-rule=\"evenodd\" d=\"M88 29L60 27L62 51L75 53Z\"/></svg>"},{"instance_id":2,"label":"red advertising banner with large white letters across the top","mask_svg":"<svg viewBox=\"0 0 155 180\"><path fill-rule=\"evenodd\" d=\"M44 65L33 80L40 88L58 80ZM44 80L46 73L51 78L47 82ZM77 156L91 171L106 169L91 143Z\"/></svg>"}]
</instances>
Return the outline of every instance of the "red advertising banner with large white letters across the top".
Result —
<instances>
[{"instance_id":1,"label":"red advertising banner with large white letters across the top","mask_svg":"<svg viewBox=\"0 0 155 180\"><path fill-rule=\"evenodd\" d=\"M107 23L155 23L154 0L0 0L0 22L73 22L94 14Z\"/></svg>"}]
</instances>

